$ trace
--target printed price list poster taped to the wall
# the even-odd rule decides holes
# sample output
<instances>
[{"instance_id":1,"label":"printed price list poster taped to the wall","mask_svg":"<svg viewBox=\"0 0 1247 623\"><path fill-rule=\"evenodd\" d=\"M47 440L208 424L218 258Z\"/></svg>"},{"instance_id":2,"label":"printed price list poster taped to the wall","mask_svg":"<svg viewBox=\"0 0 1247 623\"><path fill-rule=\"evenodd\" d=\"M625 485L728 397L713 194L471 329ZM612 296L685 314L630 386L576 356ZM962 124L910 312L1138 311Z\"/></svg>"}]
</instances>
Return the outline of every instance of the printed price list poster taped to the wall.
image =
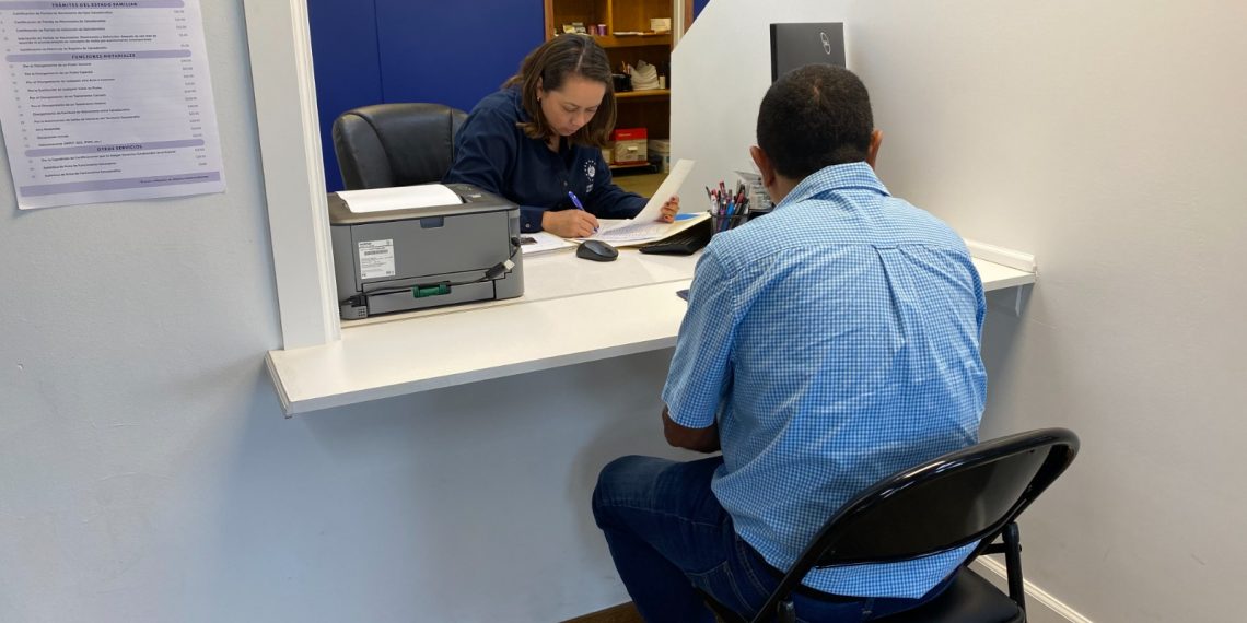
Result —
<instances>
[{"instance_id":1,"label":"printed price list poster taped to the wall","mask_svg":"<svg viewBox=\"0 0 1247 623\"><path fill-rule=\"evenodd\" d=\"M198 0L0 0L17 207L224 191Z\"/></svg>"}]
</instances>

